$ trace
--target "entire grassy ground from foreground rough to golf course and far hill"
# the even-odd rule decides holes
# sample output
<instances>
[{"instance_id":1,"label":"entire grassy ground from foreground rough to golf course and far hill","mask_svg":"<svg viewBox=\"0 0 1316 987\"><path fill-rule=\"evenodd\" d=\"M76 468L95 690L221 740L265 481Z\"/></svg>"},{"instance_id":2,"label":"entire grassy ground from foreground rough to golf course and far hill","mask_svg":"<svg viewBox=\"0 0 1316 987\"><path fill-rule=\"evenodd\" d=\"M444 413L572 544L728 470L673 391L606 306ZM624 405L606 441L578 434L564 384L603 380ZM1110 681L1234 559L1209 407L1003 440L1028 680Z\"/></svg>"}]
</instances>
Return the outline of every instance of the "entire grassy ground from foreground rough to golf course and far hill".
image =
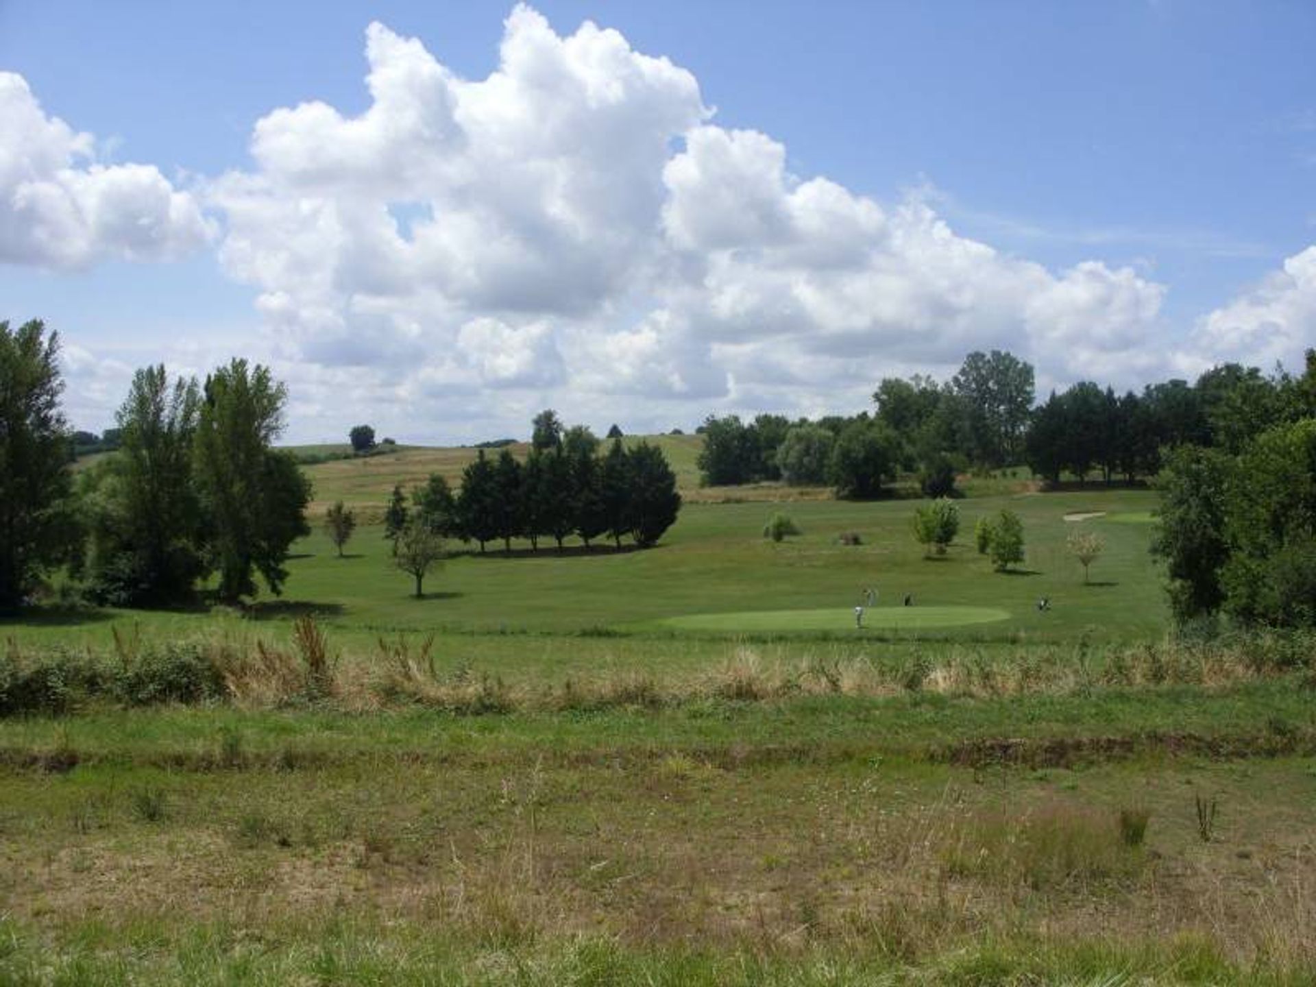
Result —
<instances>
[{"instance_id":1,"label":"entire grassy ground from foreground rough to golf course and far hill","mask_svg":"<svg viewBox=\"0 0 1316 987\"><path fill-rule=\"evenodd\" d=\"M379 505L471 454L308 471ZM1316 979L1311 642L1167 640L1154 495L983 480L926 559L909 500L774 491L421 600L367 525L247 611L0 625L0 701L111 683L0 717L0 983ZM1003 507L1011 574L965 544ZM212 691L142 697L180 644Z\"/></svg>"}]
</instances>

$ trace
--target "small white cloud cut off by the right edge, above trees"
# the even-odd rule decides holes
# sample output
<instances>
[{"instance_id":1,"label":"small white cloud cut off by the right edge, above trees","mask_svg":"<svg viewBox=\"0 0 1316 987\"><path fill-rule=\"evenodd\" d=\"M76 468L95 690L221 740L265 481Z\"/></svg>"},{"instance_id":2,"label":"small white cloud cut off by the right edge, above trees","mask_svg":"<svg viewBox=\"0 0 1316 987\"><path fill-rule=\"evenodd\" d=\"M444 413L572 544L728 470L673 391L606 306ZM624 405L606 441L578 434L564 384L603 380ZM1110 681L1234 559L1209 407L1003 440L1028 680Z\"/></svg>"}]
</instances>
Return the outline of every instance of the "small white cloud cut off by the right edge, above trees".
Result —
<instances>
[{"instance_id":1,"label":"small white cloud cut off by the right edge, above trees","mask_svg":"<svg viewBox=\"0 0 1316 987\"><path fill-rule=\"evenodd\" d=\"M1299 370L1304 349L1316 345L1316 246L1203 317L1191 342L1182 361L1198 370L1225 361Z\"/></svg>"}]
</instances>

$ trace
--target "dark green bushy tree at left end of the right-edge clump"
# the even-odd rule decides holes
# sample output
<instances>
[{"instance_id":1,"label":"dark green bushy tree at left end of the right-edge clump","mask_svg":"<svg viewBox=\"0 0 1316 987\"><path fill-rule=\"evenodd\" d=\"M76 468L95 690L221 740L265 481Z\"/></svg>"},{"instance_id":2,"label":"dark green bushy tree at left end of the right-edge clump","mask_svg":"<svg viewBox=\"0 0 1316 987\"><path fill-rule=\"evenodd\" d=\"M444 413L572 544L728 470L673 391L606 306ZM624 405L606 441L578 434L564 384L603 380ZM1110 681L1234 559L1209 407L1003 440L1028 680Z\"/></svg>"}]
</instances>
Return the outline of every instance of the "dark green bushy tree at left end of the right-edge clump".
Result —
<instances>
[{"instance_id":1,"label":"dark green bushy tree at left end of the right-edge clump","mask_svg":"<svg viewBox=\"0 0 1316 987\"><path fill-rule=\"evenodd\" d=\"M1224 601L1220 570L1229 558L1225 483L1232 471L1224 453L1186 445L1170 451L1157 479L1161 520L1152 551L1166 563L1170 608L1180 624L1215 613Z\"/></svg>"}]
</instances>

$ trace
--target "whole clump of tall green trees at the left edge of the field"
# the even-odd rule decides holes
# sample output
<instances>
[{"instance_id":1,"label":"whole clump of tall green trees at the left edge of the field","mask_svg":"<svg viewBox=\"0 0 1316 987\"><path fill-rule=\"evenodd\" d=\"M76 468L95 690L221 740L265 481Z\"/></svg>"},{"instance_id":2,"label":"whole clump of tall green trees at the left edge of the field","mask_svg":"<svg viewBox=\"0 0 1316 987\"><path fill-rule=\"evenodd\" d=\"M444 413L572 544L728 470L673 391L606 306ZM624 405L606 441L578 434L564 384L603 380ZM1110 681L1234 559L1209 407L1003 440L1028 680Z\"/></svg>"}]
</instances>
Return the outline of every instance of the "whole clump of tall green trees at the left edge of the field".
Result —
<instances>
[{"instance_id":1,"label":"whole clump of tall green trees at the left edge of the field","mask_svg":"<svg viewBox=\"0 0 1316 987\"><path fill-rule=\"evenodd\" d=\"M292 457L271 447L283 384L241 359L204 383L138 370L118 453L75 487L58 351L39 321L0 322L0 605L61 565L118 605L184 600L212 572L225 600L255 594L257 574L278 592L311 497Z\"/></svg>"}]
</instances>

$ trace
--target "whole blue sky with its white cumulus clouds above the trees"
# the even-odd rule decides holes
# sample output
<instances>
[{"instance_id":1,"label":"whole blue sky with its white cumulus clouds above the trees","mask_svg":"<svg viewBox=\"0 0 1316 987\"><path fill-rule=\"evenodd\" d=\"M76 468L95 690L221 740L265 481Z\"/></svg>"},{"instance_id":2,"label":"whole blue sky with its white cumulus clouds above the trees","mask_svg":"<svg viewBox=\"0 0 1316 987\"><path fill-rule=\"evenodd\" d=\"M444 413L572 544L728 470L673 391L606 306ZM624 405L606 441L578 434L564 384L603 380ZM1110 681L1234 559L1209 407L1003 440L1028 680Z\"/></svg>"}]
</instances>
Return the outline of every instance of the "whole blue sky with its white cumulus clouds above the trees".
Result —
<instances>
[{"instance_id":1,"label":"whole blue sky with its white cumulus clouds above the trees","mask_svg":"<svg viewBox=\"0 0 1316 987\"><path fill-rule=\"evenodd\" d=\"M0 71L22 78L42 121L95 134L68 167L154 166L188 197L163 215L157 196L143 218L132 209L145 192L124 193L113 208L126 218L82 230L76 251L26 242L26 215L0 211L0 317L45 317L75 350L78 424L109 424L132 366L204 372L243 354L288 379L299 440L357 418L400 438L480 438L524 432L545 403L637 429L851 411L883 374L945 374L979 345L1032 359L1045 387L1294 365L1316 342L1311 4L534 11L546 24L530 16L517 33L505 4L0 0ZM622 49L563 45L586 20ZM484 143L451 174L455 145L399 142L387 122L391 137L362 138L332 175L307 164L361 137L334 128L372 105L375 21L422 46L382 42L382 75L441 63L462 80L450 91L471 93L451 97L466 101L442 126L467 134L462 147ZM522 63L500 55L505 32L530 53ZM645 57L690 84L625 82ZM499 87L462 89L491 72L515 79L512 109ZM588 95L613 83L625 124ZM432 96L404 93L388 112L412 120ZM337 122L284 114L253 154L257 121L309 100ZM716 112L700 118L700 104ZM576 130L536 136L558 109ZM497 153L522 141L544 158ZM650 150L603 175L609 141ZM0 162L32 143L0 122ZM430 163L399 182L404 159ZM607 208L572 200L578 179ZM820 188L845 201L819 207ZM309 199L334 217L334 250L325 226L270 220ZM407 224L376 242L366 200L416 211L433 243ZM853 237L829 233L851 220ZM147 226L149 245L116 240Z\"/></svg>"}]
</instances>

